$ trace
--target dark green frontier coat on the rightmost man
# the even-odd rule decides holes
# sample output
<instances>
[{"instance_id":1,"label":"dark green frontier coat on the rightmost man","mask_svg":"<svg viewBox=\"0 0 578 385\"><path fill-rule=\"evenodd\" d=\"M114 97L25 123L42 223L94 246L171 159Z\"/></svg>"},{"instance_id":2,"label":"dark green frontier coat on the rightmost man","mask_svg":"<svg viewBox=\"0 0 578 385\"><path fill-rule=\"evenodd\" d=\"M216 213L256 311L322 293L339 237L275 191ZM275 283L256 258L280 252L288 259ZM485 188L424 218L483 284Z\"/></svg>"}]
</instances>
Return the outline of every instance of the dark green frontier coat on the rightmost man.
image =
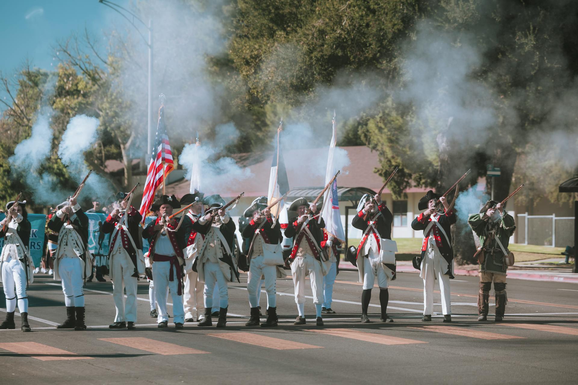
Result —
<instances>
[{"instance_id":1,"label":"dark green frontier coat on the rightmost man","mask_svg":"<svg viewBox=\"0 0 578 385\"><path fill-rule=\"evenodd\" d=\"M480 245L484 245L486 238L490 235L490 231L495 230L496 236L499 238L502 245L507 250L507 246L510 242L510 237L516 230L516 225L514 224L514 218L512 215L507 214L506 211L503 212L502 217L492 222L490 218L484 214L473 214L468 218L468 224L472 227L478 237L480 237ZM484 262L480 265L480 272L491 272L499 275L506 275L507 266L504 263L504 253L498 245L498 241L492 240L490 244L486 245L486 251L484 251Z\"/></svg>"}]
</instances>

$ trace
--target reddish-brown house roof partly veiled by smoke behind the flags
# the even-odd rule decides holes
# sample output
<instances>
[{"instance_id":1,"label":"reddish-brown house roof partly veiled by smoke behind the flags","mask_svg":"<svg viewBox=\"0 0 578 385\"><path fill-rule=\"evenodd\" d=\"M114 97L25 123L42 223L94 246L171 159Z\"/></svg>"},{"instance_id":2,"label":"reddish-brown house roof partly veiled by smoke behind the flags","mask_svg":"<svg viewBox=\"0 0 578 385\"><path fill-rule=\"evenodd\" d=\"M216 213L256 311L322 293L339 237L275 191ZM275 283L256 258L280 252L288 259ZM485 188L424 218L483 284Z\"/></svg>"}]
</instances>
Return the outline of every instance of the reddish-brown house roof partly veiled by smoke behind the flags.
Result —
<instances>
[{"instance_id":1,"label":"reddish-brown house roof partly veiled by smoke behind the flags","mask_svg":"<svg viewBox=\"0 0 578 385\"><path fill-rule=\"evenodd\" d=\"M346 146L340 147L347 151L350 163L343 167L339 174L337 184L340 188L364 187L371 190L379 191L383 185L383 179L374 172L375 167L379 166L379 157L377 152L371 151L366 146ZM323 187L324 175L308 173L303 169L303 166L292 167L292 160L300 159L301 164L303 159L309 159L312 153L320 152L327 154L327 147L314 149L297 149L291 152L284 152L283 158L287 169L287 178L291 190L298 188L315 188L312 186ZM235 159L240 167L249 167L254 177L246 180L242 185L231 185L224 190L218 192L205 193L219 193L223 197L234 197L240 191L244 191L245 196L261 196L268 194L269 175L271 174L271 161L273 152L254 152L244 154L234 154L231 158ZM327 159L327 155L325 155ZM327 162L327 160L325 160ZM304 172L305 171L305 172ZM324 174L324 173L323 173ZM166 186L166 193L175 194L178 198L189 192L190 182L186 179L169 184ZM406 193L411 192L427 192L427 188L411 187L407 189ZM389 193L387 188L383 190L384 193Z\"/></svg>"}]
</instances>

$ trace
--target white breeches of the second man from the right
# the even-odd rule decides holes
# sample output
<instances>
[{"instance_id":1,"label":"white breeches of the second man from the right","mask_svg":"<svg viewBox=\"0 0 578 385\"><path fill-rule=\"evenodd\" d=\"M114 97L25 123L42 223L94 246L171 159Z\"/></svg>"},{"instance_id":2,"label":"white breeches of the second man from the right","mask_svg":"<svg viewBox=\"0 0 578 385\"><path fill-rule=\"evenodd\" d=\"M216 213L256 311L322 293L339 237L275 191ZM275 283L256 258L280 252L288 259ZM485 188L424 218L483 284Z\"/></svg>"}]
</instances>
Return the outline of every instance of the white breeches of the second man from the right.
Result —
<instances>
[{"instance_id":1,"label":"white breeches of the second man from the right","mask_svg":"<svg viewBox=\"0 0 578 385\"><path fill-rule=\"evenodd\" d=\"M450 276L443 274L442 263L446 263L446 260L440 255L438 248L432 248L431 245L428 245L424 261L421 263L421 271L424 276L424 315L433 314L433 284L436 278L442 293L442 313L444 315L451 314Z\"/></svg>"}]
</instances>

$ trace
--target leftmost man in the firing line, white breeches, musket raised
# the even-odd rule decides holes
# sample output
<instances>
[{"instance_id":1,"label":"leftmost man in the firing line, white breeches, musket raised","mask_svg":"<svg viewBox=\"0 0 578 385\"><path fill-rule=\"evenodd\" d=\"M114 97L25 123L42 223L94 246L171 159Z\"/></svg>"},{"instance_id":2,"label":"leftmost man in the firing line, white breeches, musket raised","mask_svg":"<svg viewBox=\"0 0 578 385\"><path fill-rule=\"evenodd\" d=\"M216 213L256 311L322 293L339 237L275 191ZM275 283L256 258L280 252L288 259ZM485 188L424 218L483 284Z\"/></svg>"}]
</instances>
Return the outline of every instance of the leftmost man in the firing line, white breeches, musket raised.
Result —
<instances>
[{"instance_id":1,"label":"leftmost man in the firing line, white breeches, musket raised","mask_svg":"<svg viewBox=\"0 0 578 385\"><path fill-rule=\"evenodd\" d=\"M0 222L0 237L4 246L0 254L0 282L6 297L6 319L0 329L14 329L16 304L20 311L20 329L30 331L28 324L27 283L34 281L34 262L28 255L30 222L26 211L26 201L12 201L6 204L6 218ZM14 290L16 288L16 290Z\"/></svg>"}]
</instances>

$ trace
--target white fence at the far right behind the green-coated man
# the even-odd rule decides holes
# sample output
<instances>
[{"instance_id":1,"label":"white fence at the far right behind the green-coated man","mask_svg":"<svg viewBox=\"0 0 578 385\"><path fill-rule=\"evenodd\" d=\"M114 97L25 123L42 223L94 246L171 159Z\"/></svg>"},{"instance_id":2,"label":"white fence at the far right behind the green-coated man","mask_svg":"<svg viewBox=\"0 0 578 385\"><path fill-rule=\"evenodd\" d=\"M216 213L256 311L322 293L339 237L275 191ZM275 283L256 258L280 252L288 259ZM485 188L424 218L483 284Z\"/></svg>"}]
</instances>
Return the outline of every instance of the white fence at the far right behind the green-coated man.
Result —
<instances>
[{"instance_id":1,"label":"white fence at the far right behind the green-coated man","mask_svg":"<svg viewBox=\"0 0 578 385\"><path fill-rule=\"evenodd\" d=\"M565 247L574 245L572 216L518 214L517 244Z\"/></svg>"}]
</instances>

